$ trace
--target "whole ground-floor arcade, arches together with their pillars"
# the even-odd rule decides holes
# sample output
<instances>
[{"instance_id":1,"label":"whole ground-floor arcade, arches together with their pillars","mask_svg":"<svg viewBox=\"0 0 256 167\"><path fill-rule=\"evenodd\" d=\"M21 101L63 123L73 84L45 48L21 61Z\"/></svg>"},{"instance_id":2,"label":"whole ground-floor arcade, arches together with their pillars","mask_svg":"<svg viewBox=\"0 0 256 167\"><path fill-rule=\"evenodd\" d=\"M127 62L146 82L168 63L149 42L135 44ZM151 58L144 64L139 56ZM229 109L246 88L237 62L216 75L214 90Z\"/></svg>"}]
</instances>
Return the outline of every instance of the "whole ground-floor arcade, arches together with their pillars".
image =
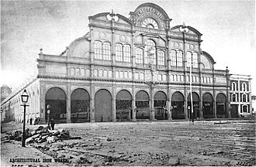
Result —
<instances>
[{"instance_id":1,"label":"whole ground-floor arcade, arches together with their pillars","mask_svg":"<svg viewBox=\"0 0 256 167\"><path fill-rule=\"evenodd\" d=\"M44 94L40 118L42 123L47 117L56 122L100 122L100 121L137 121L203 118L228 118L228 101L225 92L213 94L205 92L201 96L195 91L164 90L149 92L144 89L130 91L123 88L113 94L108 88L100 87L92 95L91 90L78 87L67 95L61 87L50 87ZM193 105L192 110L189 108ZM189 107L190 106L190 107ZM50 114L46 109L50 109Z\"/></svg>"}]
</instances>

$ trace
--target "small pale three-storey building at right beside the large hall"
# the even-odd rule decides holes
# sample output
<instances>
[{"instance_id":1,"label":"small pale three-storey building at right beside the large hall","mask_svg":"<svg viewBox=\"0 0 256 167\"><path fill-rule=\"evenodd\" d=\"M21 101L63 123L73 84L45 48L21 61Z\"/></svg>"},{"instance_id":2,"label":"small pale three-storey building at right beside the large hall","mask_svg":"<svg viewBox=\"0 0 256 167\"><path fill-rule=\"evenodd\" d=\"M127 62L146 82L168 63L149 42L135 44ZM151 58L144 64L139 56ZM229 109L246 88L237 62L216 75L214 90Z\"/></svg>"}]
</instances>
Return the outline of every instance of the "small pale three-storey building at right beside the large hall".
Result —
<instances>
[{"instance_id":1,"label":"small pale three-storey building at right beside the large hall","mask_svg":"<svg viewBox=\"0 0 256 167\"><path fill-rule=\"evenodd\" d=\"M231 117L251 115L251 76L233 74L230 77L230 110Z\"/></svg>"}]
</instances>

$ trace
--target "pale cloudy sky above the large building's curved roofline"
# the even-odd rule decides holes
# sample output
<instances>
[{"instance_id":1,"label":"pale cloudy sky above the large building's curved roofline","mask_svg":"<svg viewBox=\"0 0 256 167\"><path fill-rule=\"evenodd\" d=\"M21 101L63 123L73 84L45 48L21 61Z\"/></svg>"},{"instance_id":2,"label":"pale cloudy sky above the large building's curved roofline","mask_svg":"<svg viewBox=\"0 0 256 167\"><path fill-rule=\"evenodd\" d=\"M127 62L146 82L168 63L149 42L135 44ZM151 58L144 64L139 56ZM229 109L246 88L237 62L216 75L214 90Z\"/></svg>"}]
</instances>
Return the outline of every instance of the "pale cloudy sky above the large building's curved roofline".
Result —
<instances>
[{"instance_id":1,"label":"pale cloudy sky above the large building's curved roofline","mask_svg":"<svg viewBox=\"0 0 256 167\"><path fill-rule=\"evenodd\" d=\"M201 48L215 69L252 77L256 95L255 2L250 1L1 1L0 86L16 89L36 74L38 53L60 55L88 31L88 16L100 12L127 18L152 2L167 12L171 27L192 26L202 33Z\"/></svg>"}]
</instances>

